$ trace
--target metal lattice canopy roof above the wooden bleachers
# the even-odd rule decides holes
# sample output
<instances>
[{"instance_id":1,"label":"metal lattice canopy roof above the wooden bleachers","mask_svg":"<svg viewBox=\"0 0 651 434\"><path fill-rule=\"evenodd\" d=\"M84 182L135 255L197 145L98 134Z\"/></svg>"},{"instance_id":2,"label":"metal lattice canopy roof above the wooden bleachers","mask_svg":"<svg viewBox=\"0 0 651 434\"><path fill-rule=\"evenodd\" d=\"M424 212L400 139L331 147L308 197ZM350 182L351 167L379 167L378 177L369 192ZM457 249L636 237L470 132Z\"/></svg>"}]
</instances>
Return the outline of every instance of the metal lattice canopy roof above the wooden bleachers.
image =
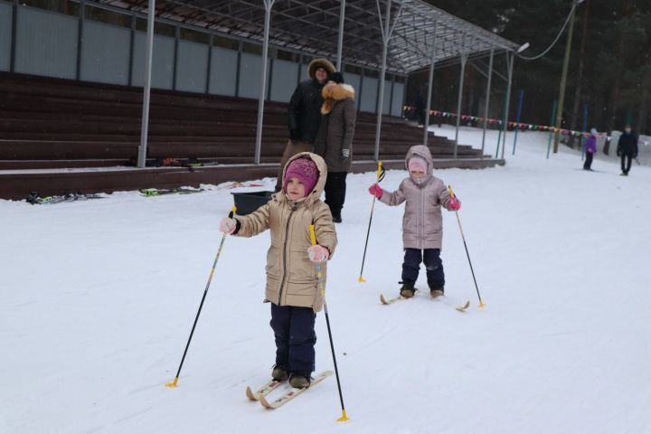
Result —
<instances>
[{"instance_id":1,"label":"metal lattice canopy roof above the wooden bleachers","mask_svg":"<svg viewBox=\"0 0 651 434\"><path fill-rule=\"evenodd\" d=\"M95 0L146 13L147 0ZM344 20L344 63L380 70L382 25L386 0L347 0ZM275 0L271 9L269 43L312 56L335 59L340 0ZM156 16L216 33L262 42L263 0L157 0ZM467 23L421 0L392 0L387 71L408 74L429 65L436 41L437 64L457 63L495 52L514 52L518 44Z\"/></svg>"}]
</instances>

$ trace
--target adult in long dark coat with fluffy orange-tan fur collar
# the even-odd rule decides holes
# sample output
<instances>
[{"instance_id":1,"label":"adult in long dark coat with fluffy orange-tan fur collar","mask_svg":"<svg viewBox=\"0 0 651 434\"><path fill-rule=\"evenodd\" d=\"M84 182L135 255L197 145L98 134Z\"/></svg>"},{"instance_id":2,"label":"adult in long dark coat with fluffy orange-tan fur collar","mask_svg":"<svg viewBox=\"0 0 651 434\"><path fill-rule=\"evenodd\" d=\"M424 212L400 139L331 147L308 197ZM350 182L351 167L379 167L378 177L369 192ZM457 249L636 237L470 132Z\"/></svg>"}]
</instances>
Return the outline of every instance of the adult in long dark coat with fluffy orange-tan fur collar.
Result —
<instances>
[{"instance_id":1,"label":"adult in long dark coat with fluffy orange-tan fur collar","mask_svg":"<svg viewBox=\"0 0 651 434\"><path fill-rule=\"evenodd\" d=\"M328 75L321 92L324 103L316 140L315 153L323 156L328 175L325 180L325 203L330 207L333 222L342 222L345 202L345 179L353 159L353 136L357 119L354 89L344 84L340 72Z\"/></svg>"}]
</instances>

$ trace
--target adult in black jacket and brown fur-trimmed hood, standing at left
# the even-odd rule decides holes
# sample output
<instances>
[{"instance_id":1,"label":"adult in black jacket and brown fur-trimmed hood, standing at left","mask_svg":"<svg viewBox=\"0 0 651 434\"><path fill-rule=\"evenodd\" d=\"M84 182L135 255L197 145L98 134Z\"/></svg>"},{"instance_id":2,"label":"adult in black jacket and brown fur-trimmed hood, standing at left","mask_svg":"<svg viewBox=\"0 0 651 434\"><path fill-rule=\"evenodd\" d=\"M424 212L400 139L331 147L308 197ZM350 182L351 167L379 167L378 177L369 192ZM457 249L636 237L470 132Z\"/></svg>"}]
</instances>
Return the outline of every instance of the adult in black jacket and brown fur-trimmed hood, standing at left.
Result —
<instances>
[{"instance_id":1,"label":"adult in black jacket and brown fur-trimmed hood, standing at left","mask_svg":"<svg viewBox=\"0 0 651 434\"><path fill-rule=\"evenodd\" d=\"M312 152L321 121L321 90L327 74L335 72L335 65L325 59L315 59L307 66L309 80L298 83L297 89L289 99L288 127L289 140L280 159L276 191L282 188L282 171L288 159L299 152Z\"/></svg>"}]
</instances>

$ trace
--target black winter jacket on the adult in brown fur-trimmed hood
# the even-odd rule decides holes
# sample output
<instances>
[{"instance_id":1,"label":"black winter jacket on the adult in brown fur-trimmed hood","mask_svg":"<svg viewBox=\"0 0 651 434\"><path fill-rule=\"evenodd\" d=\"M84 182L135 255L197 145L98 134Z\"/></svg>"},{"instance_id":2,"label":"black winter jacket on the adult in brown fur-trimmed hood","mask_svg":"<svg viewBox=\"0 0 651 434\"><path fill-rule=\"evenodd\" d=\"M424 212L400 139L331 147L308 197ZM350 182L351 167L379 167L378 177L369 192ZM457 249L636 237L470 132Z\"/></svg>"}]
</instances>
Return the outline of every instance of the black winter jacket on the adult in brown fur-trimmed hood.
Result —
<instances>
[{"instance_id":1,"label":"black winter jacket on the adult in brown fur-trimmed hood","mask_svg":"<svg viewBox=\"0 0 651 434\"><path fill-rule=\"evenodd\" d=\"M324 85L316 79L301 81L289 100L289 137L300 142L314 143L321 121L321 90Z\"/></svg>"}]
</instances>

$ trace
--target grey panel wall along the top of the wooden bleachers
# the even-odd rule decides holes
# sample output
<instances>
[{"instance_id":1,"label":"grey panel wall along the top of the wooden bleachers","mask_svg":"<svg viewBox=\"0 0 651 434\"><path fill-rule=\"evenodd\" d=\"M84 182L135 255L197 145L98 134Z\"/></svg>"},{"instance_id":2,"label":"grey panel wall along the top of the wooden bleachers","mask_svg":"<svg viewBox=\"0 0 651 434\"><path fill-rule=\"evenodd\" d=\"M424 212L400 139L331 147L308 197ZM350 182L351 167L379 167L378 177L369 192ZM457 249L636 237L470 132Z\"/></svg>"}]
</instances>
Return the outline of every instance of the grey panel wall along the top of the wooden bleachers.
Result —
<instances>
[{"instance_id":1,"label":"grey panel wall along the top of the wooden bleachers","mask_svg":"<svg viewBox=\"0 0 651 434\"><path fill-rule=\"evenodd\" d=\"M11 70L13 7L12 3L0 0L0 71ZM112 14L121 16L121 13ZM127 15L127 20L131 18ZM16 20L15 72L76 79L79 61L80 80L131 86L145 84L146 33L141 30L132 30L128 24L125 27L100 23L87 15L81 25L80 38L78 16L25 5L18 5ZM248 47L242 50L241 42L231 41L232 44L215 43L209 48L202 42L208 41L208 33L203 34L205 40L199 39L199 42L178 38L178 28L176 37L154 35L152 87L257 99L261 56L255 45L246 42ZM222 36L215 38L224 42ZM287 102L297 82L307 80L307 63L303 61L274 59L272 63L269 60L268 71L268 96L274 101ZM379 80L373 74L371 72L369 77L344 72L346 82L355 89L358 107L367 112L375 111L378 98ZM401 116L403 93L404 83L387 81L382 112Z\"/></svg>"}]
</instances>

